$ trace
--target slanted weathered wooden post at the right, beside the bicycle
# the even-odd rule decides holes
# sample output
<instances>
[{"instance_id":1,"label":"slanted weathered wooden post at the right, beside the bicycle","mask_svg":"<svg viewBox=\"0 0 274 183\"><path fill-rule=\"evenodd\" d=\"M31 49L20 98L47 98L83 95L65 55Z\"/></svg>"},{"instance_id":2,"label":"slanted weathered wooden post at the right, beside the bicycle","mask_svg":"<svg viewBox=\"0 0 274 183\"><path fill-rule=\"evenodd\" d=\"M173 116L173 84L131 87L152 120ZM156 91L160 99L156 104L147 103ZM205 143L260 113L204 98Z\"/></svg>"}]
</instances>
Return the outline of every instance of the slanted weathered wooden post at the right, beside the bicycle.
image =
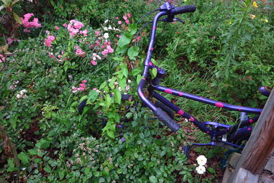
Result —
<instances>
[{"instance_id":1,"label":"slanted weathered wooden post at the right, beside the bicycle","mask_svg":"<svg viewBox=\"0 0 274 183\"><path fill-rule=\"evenodd\" d=\"M238 161L234 172L229 178L229 183L237 180L240 168L250 171L254 175L260 174L267 160L274 152L274 88L267 99L264 110L258 119L258 123L242 150L242 156Z\"/></svg>"}]
</instances>

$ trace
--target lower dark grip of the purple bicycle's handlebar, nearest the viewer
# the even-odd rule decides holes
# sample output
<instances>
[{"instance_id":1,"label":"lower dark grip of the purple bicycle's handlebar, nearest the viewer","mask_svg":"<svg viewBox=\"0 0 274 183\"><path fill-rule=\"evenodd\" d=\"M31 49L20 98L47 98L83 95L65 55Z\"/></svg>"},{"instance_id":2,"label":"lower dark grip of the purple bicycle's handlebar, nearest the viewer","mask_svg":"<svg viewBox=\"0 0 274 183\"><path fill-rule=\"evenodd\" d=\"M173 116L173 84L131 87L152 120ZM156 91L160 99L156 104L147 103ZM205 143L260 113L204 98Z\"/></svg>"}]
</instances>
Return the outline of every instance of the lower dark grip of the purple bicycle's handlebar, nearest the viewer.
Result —
<instances>
[{"instance_id":1,"label":"lower dark grip of the purple bicycle's handlebar, nearest the viewer","mask_svg":"<svg viewBox=\"0 0 274 183\"><path fill-rule=\"evenodd\" d=\"M160 119L160 121L164 122L173 132L177 132L179 130L180 125L175 123L168 114L164 112L161 108L157 108L154 112L154 115Z\"/></svg>"}]
</instances>

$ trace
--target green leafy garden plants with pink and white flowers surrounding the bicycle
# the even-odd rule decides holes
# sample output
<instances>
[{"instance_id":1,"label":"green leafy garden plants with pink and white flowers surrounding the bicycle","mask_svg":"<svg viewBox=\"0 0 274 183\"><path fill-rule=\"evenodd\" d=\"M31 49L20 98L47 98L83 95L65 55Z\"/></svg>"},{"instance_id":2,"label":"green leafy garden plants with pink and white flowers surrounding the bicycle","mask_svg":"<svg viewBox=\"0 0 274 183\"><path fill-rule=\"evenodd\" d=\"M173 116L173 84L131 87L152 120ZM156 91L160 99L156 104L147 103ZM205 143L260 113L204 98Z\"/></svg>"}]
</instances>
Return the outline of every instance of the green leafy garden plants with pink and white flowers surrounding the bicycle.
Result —
<instances>
[{"instance_id":1,"label":"green leafy garden plants with pink and white flowers surrounding the bicycle","mask_svg":"<svg viewBox=\"0 0 274 183\"><path fill-rule=\"evenodd\" d=\"M182 147L208 137L179 117L172 133L135 104L150 27L136 32L152 16L136 23L163 1L2 2L1 182L221 180L226 149L199 147L187 159ZM274 82L273 1L171 3L197 11L181 16L185 25L159 23L153 62L168 71L163 85L263 108L257 88ZM236 112L169 99L197 119L238 123Z\"/></svg>"}]
</instances>

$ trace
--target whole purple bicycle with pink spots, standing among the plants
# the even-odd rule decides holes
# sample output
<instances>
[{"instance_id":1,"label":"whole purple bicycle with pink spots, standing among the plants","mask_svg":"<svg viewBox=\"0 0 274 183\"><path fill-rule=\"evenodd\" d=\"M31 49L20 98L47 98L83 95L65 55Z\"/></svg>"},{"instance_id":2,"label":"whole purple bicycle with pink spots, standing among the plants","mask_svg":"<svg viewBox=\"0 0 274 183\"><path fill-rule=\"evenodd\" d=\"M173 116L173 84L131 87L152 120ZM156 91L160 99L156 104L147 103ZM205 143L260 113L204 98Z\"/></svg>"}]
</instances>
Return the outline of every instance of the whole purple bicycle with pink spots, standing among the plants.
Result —
<instances>
[{"instance_id":1,"label":"whole purple bicycle with pink spots, standing among the plants","mask_svg":"<svg viewBox=\"0 0 274 183\"><path fill-rule=\"evenodd\" d=\"M157 99L158 101L163 103L164 106L167 106L167 108L170 108L174 112L177 112L177 114L188 119L188 121L191 121L191 123L197 126L199 130L201 130L202 132L205 132L211 137L210 143L193 143L192 145L212 145L212 146L219 146L219 147L227 147L229 149L242 149L241 143L242 141L247 140L249 138L252 131L251 125L258 121L258 118L260 117L262 109L249 108L245 106L234 106L228 103L223 103L221 101L215 101L215 100L207 99L197 95L184 93L179 90L174 90L172 88L166 88L164 86L160 86L159 84L165 71L164 69L158 66L155 66L151 62L151 56L153 52L153 45L154 45L155 33L156 33L158 21L164 21L164 22L180 21L184 23L184 21L182 21L181 19L175 18L175 15L183 14L187 12L195 12L196 7L195 5L186 5L186 6L175 8L175 6L167 2L161 5L160 8L153 10L151 12L155 12L157 10L160 12L158 12L158 14L154 16L153 21L150 22L152 23L151 37L149 40L149 48L147 51L147 56L145 58L144 69L142 72L142 80L140 81L140 84L138 85L138 96L143 101L143 103L145 103L145 106L150 108L155 114L155 116L158 117L160 121L164 122L164 124L166 124L173 132L177 132L177 130L179 130L180 128L180 125L175 123L175 121L173 120L173 117L170 117L169 113L165 112L164 110L162 110L162 108L160 108L159 106L155 106L151 101L149 101L150 98L153 97ZM150 14L151 12L147 14ZM145 14L145 16L147 14ZM167 16L167 17L165 19L160 20L161 16ZM142 16L142 18L143 17L144 16ZM149 23L147 23L145 26L147 25L149 25ZM150 69L157 69L157 75L155 78L152 78L151 75L149 74ZM146 88L146 90L149 93L148 97L146 97L144 94L145 93L144 88ZM266 96L270 94L270 90L271 90L270 88L266 88L263 86L259 88L260 93ZM176 95L178 97L184 97L184 98L199 101L202 103L207 103L209 105L216 106L217 108L225 108L227 110L234 110L234 111L241 112L240 124L226 125L226 124L212 122L212 121L206 121L206 122L198 121L197 119L195 119L195 117L184 112L184 110L175 106L173 103L171 103L171 101L169 101L168 99L165 99L164 97L162 97L162 95L160 95L156 91L168 93L171 95ZM256 115L255 117L249 118L247 117L247 114L258 114L258 115ZM185 147L185 152L188 150L189 150L189 147Z\"/></svg>"}]
</instances>

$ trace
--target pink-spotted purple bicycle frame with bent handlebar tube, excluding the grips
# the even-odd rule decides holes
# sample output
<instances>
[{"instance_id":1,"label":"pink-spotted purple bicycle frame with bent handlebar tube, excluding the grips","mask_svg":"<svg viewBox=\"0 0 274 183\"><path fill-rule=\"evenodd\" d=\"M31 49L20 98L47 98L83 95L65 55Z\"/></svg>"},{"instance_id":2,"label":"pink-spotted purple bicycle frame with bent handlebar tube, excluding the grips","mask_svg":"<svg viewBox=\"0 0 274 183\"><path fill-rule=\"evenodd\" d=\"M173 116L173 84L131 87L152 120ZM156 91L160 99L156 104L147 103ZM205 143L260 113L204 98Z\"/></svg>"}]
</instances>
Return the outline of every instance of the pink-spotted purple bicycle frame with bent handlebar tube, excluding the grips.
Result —
<instances>
[{"instance_id":1,"label":"pink-spotted purple bicycle frame with bent handlebar tube, excluding the grips","mask_svg":"<svg viewBox=\"0 0 274 183\"><path fill-rule=\"evenodd\" d=\"M229 143L223 140L220 140L219 137L223 136L224 134L227 133L232 133L237 131L238 133L241 133L241 129L239 129L240 127L245 127L245 126L249 126L252 123L256 123L256 121L258 120L258 116L253 117L251 119L247 119L245 121L242 121L240 124L238 125L224 125L221 123L216 123L216 122L200 122L197 119L195 119L195 117L193 117L192 115L184 112L182 109L178 108L177 106L175 106L173 103L171 103L171 101L169 101L168 99L162 97L162 95L160 95L159 93L155 92L155 90L158 90L160 92L164 92L164 93L168 93L171 95L176 95L178 97L184 97L187 99L191 99L191 100L195 100L201 103L206 103L212 106L216 106L218 108L225 108L227 110L234 110L234 111L238 111L238 112L247 112L247 113L252 113L252 114L261 114L262 109L260 108L249 108L249 107L245 107L245 106L234 106L231 105L229 103L223 103L221 101L215 101L212 99L207 99L204 97L200 97L197 95L192 95L189 93L184 93L182 91L179 90L174 90L172 88L166 88L164 86L159 86L160 83L160 79L162 77L162 75L164 75L165 71L164 69L159 68L158 66L155 66L152 62L151 62L151 56L152 56L152 52L153 52L153 45L154 45L154 40L155 40L155 32L157 29L157 23L158 23L158 19L161 16L164 15L169 15L168 12L159 12L158 14L156 14L154 16L153 19L153 23L151 26L151 38L149 41L149 48L147 51L147 57L145 58L145 62L144 62L144 71L142 73L142 80L140 81L140 84L138 85L138 95L140 97L140 99L145 103L145 105L147 107L149 107L153 112L157 109L153 103L151 103L151 101L149 101L149 99L147 99L147 97L145 97L144 92L142 91L142 88L144 88L144 86L146 85L146 82L149 82L149 95L151 97L154 97L155 99L158 99L159 101L161 101L162 103L164 103L166 106L168 106L169 108L171 108L172 110L174 110L175 112L177 112L177 114L181 115L182 117L188 119L189 121L191 121L192 123L195 124L195 126L197 126L199 128L199 130L201 130L202 132L205 132L206 134L210 135L212 138L212 142L211 143L206 143L206 144L198 144L195 143L193 145L219 145L219 143L223 143L223 146L228 145L228 146L234 146L234 147L240 147L239 145L235 145L233 143ZM158 71L158 79L153 79L155 80L153 82L153 80L151 80L150 75L149 75L149 69L154 69L156 68ZM207 127L206 125L214 125L214 127L222 127L223 130L221 131L217 131L217 130L210 130L209 127ZM252 127L245 127L247 129L245 130L252 130Z\"/></svg>"}]
</instances>

